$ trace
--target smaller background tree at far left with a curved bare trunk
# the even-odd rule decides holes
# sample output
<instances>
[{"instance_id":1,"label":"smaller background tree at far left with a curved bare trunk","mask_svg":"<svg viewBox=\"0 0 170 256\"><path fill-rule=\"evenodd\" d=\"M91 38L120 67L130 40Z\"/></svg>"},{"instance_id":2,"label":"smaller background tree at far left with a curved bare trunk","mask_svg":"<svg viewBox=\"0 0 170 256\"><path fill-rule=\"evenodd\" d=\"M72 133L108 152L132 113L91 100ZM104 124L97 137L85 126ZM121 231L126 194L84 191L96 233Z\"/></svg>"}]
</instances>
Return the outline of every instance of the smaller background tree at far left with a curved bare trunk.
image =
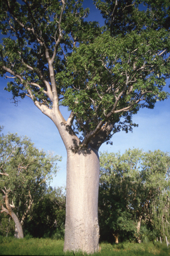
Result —
<instances>
[{"instance_id":1,"label":"smaller background tree at far left with a curved bare trunk","mask_svg":"<svg viewBox=\"0 0 170 256\"><path fill-rule=\"evenodd\" d=\"M27 137L21 139L17 134L1 134L0 144L1 197L5 201L1 213L12 217L18 237L23 238L25 217L33 202L37 203L46 191L47 181L56 174L60 157L39 151Z\"/></svg>"}]
</instances>

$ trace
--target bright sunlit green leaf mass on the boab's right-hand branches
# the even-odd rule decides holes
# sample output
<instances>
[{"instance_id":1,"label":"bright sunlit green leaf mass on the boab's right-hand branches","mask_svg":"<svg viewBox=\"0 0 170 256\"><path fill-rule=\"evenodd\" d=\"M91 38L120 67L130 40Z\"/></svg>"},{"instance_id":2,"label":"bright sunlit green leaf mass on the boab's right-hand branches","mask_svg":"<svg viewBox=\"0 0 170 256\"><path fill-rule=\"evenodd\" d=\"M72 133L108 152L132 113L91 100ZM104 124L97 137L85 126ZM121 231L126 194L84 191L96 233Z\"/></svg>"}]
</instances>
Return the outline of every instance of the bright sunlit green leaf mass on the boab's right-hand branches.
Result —
<instances>
[{"instance_id":1,"label":"bright sunlit green leaf mass on the boab's right-hand branches","mask_svg":"<svg viewBox=\"0 0 170 256\"><path fill-rule=\"evenodd\" d=\"M68 59L65 79L64 71L60 73L68 85L62 104L77 113L79 123L87 123L88 131L99 121L117 123L122 113L130 123L140 107L153 108L157 100L167 98L162 89L169 60L161 50L163 42L169 45L169 33L152 30L124 38L104 33L94 43L81 45Z\"/></svg>"}]
</instances>

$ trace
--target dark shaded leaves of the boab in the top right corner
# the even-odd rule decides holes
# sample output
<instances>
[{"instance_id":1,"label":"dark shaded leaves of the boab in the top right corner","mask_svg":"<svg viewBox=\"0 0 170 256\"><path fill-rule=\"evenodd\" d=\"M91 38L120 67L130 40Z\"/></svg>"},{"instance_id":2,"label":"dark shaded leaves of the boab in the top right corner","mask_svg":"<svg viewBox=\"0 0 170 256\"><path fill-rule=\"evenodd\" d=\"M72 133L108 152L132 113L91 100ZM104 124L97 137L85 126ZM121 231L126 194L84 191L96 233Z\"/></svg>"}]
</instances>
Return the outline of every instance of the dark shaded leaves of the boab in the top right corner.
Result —
<instances>
[{"instance_id":1,"label":"dark shaded leaves of the boab in the top right corner","mask_svg":"<svg viewBox=\"0 0 170 256\"><path fill-rule=\"evenodd\" d=\"M145 29L169 30L169 1L112 1L94 0L105 19L112 36L126 35L131 31L140 33Z\"/></svg>"}]
</instances>

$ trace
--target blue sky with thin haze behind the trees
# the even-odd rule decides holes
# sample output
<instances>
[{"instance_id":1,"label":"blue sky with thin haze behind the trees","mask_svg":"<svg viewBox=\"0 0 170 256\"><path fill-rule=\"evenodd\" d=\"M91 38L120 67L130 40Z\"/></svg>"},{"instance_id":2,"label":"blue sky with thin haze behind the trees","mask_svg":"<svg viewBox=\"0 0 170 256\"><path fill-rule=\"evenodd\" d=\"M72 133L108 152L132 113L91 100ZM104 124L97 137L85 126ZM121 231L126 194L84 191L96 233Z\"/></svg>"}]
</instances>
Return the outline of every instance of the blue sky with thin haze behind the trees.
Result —
<instances>
[{"instance_id":1,"label":"blue sky with thin haze behind the trees","mask_svg":"<svg viewBox=\"0 0 170 256\"><path fill-rule=\"evenodd\" d=\"M91 6L92 0L85 0L84 7L90 5L91 14L88 20L100 21L103 24L100 13L96 7ZM62 156L62 162L59 162L60 171L54 177L52 187L66 185L66 149L60 139L60 135L52 121L43 115L31 99L20 99L17 107L11 103L11 93L4 91L3 88L7 80L0 77L0 125L4 126L3 133L17 133L18 135L31 138L38 149L44 151L53 151ZM170 89L167 80L165 91ZM111 141L113 145L102 145L100 151L124 153L129 148L139 148L144 151L170 152L170 99L157 102L154 109L140 109L137 115L133 116L133 122L138 123L139 127L133 128L133 133L121 131L115 134ZM64 117L68 117L68 111L65 107L61 109Z\"/></svg>"}]
</instances>

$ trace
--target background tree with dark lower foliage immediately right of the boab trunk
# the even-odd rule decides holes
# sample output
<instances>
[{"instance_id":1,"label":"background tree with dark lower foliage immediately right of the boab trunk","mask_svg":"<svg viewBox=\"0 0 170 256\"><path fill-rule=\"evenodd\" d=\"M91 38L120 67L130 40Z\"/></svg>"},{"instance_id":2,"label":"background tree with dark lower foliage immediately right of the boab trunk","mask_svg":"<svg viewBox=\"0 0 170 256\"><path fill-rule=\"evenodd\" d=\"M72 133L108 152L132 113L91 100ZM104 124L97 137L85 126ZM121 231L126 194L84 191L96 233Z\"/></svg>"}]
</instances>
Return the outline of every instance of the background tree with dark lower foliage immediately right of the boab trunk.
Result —
<instances>
[{"instance_id":1,"label":"background tree with dark lower foliage immediately right of the boab trunk","mask_svg":"<svg viewBox=\"0 0 170 256\"><path fill-rule=\"evenodd\" d=\"M134 239L136 231L135 200L139 185L141 150L133 149L120 153L100 154L99 222L102 239L112 235L116 243ZM140 193L137 199L141 199Z\"/></svg>"}]
</instances>

